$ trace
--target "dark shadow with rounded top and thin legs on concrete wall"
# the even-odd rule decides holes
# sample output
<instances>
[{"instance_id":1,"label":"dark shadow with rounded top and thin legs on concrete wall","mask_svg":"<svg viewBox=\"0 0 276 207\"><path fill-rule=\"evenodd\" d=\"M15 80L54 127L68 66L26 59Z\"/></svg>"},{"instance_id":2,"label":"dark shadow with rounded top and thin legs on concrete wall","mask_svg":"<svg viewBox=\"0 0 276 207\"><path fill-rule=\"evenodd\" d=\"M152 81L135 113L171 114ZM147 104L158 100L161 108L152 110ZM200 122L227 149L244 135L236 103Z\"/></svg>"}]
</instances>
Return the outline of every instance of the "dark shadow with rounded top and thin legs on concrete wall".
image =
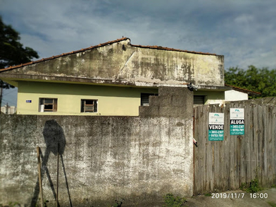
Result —
<instances>
[{"instance_id":1,"label":"dark shadow with rounded top and thin legs on concrete wall","mask_svg":"<svg viewBox=\"0 0 276 207\"><path fill-rule=\"evenodd\" d=\"M46 150L44 152L44 155L40 151L41 160L42 160L41 177L43 179L44 174L46 173L48 181L50 183L50 187L52 189L52 194L56 199L57 193L55 191L54 184L52 183L52 179L50 177L50 173L49 173L47 164L48 164L50 152L52 152L56 156L56 157L53 157L53 159L56 159L56 160L57 160L57 155L60 155L61 156L61 164L62 164L62 168L63 168L63 174L64 174L65 181L66 181L68 198L69 198L70 206L72 206L70 191L69 191L69 187L68 187L68 180L67 180L67 176L66 176L66 170L65 170L64 162L63 162L63 152L64 152L65 146L66 146L66 139L64 136L63 129L61 128L61 126L59 126L57 121L55 121L54 119L48 120L45 122L45 126L43 128L43 137L44 137L44 141L46 144ZM57 171L54 172L53 174L57 175ZM39 179L37 179L37 184L34 188L34 195L32 197L31 206L36 206L38 197L39 197Z\"/></svg>"}]
</instances>

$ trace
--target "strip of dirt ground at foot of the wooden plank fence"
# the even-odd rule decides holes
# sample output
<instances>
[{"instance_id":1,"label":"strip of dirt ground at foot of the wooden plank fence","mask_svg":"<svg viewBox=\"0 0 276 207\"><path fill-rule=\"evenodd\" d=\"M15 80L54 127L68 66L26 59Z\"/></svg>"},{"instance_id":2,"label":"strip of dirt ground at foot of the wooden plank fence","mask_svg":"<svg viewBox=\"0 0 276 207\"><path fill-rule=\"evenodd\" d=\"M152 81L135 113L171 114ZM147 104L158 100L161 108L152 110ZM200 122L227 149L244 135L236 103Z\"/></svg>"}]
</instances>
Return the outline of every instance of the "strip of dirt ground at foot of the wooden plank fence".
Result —
<instances>
[{"instance_id":1,"label":"strip of dirt ground at foot of the wooden plank fence","mask_svg":"<svg viewBox=\"0 0 276 207\"><path fill-rule=\"evenodd\" d=\"M187 198L187 202L185 206L190 206L190 207L203 207L203 206L211 206L211 207L268 206L268 207L271 207L273 206L273 207L276 207L276 188L270 188L267 190L259 191L255 195L256 198L253 198L253 196L254 195L251 195L250 197L250 193L246 193L242 190L217 193L213 196L199 195L199 196Z\"/></svg>"}]
</instances>

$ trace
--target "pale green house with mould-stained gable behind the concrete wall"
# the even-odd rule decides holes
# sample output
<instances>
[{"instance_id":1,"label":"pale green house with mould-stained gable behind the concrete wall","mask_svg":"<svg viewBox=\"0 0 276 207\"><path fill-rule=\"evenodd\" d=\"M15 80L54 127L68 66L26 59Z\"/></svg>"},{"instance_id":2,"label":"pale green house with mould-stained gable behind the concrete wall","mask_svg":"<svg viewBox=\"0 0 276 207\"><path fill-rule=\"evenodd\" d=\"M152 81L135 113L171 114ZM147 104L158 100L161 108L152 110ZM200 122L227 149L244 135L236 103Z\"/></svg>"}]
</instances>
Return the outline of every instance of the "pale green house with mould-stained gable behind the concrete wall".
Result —
<instances>
[{"instance_id":1,"label":"pale green house with mould-stained gable behind the concrete wall","mask_svg":"<svg viewBox=\"0 0 276 207\"><path fill-rule=\"evenodd\" d=\"M125 37L0 70L18 88L18 115L139 115L160 86L196 88L197 101L224 99L224 56ZM193 89L192 89L193 90Z\"/></svg>"}]
</instances>

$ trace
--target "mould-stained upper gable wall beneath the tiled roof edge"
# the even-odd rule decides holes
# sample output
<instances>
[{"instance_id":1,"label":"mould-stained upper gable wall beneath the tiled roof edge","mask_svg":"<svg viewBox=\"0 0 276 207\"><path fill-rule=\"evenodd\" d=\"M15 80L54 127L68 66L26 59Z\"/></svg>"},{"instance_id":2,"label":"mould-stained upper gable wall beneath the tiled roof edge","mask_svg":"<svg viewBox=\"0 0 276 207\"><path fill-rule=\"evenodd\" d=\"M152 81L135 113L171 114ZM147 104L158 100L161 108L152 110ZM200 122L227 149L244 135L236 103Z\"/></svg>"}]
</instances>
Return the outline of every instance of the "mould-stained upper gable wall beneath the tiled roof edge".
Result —
<instances>
[{"instance_id":1,"label":"mould-stained upper gable wall beneath the tiled roof edge","mask_svg":"<svg viewBox=\"0 0 276 207\"><path fill-rule=\"evenodd\" d=\"M224 57L134 46L130 44L130 39L124 39L3 71L1 79L135 86L181 86L183 83L224 86Z\"/></svg>"}]
</instances>

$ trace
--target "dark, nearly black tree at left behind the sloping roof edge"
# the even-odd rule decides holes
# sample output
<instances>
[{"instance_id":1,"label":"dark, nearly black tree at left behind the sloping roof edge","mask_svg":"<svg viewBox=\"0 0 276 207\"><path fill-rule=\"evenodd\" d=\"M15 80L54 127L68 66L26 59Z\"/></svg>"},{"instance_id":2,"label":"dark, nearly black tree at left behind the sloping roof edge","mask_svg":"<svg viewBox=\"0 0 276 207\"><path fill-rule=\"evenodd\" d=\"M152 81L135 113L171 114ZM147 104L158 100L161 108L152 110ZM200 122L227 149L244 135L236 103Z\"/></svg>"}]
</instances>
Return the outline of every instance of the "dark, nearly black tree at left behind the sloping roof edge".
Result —
<instances>
[{"instance_id":1,"label":"dark, nearly black tree at left behind the sloping roof edge","mask_svg":"<svg viewBox=\"0 0 276 207\"><path fill-rule=\"evenodd\" d=\"M23 48L23 44L19 42L19 32L14 30L12 26L7 26L3 23L0 17L0 68L19 65L21 63L28 63L32 58L39 58L37 52L32 48ZM0 108L2 101L3 88L14 88L8 83L0 79Z\"/></svg>"}]
</instances>

